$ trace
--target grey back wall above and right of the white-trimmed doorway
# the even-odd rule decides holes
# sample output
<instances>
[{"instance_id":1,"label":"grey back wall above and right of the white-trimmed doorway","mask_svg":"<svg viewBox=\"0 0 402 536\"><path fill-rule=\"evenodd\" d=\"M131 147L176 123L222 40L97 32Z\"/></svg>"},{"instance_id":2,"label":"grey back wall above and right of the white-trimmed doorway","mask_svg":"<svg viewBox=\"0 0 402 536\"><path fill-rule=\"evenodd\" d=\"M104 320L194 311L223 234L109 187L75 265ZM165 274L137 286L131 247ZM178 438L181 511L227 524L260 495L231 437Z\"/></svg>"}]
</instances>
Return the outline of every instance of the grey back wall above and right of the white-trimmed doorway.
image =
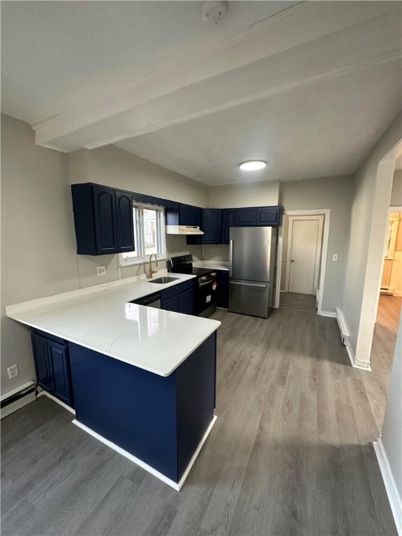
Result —
<instances>
[{"instance_id":1,"label":"grey back wall above and right of the white-trimmed doorway","mask_svg":"<svg viewBox=\"0 0 402 536\"><path fill-rule=\"evenodd\" d=\"M308 179L282 183L281 202L286 210L331 209L325 288L322 309L335 312L342 305L348 254L353 177ZM332 254L338 253L338 260Z\"/></svg>"}]
</instances>

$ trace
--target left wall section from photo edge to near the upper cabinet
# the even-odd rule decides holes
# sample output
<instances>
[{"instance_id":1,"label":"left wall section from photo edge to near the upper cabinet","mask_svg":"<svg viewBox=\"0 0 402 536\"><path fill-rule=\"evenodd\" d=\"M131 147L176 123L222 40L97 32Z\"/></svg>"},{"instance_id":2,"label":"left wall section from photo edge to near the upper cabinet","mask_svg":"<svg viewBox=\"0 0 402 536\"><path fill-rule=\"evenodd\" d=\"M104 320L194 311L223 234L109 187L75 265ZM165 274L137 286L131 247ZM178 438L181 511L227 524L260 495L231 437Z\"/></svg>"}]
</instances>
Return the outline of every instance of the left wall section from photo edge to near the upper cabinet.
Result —
<instances>
[{"instance_id":1,"label":"left wall section from photo edge to near the upper cabinet","mask_svg":"<svg viewBox=\"0 0 402 536\"><path fill-rule=\"evenodd\" d=\"M1 115L1 391L35 378L29 329L6 318L18 301L78 288L67 156ZM7 367L20 375L8 380Z\"/></svg>"}]
</instances>

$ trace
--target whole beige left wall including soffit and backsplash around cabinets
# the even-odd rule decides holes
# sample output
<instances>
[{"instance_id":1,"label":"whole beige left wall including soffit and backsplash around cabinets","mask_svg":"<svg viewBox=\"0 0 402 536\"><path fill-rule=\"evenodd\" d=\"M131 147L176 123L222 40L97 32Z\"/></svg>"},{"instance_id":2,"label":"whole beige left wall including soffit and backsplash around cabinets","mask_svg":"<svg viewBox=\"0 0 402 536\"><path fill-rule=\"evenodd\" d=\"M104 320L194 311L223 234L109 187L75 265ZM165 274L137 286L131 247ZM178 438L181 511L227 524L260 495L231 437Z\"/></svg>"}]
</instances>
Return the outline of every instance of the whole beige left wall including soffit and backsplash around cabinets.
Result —
<instances>
[{"instance_id":1,"label":"whole beige left wall including soffit and backsplash around cabinets","mask_svg":"<svg viewBox=\"0 0 402 536\"><path fill-rule=\"evenodd\" d=\"M31 126L4 115L1 154L1 391L8 392L35 374L29 329L6 318L4 307L119 278L117 255L76 255L70 184L93 181L199 206L207 187L117 147L70 155L43 149ZM182 250L185 237L168 237L170 255ZM106 265L105 277L96 276L97 265ZM8 380L15 363L20 375Z\"/></svg>"}]
</instances>

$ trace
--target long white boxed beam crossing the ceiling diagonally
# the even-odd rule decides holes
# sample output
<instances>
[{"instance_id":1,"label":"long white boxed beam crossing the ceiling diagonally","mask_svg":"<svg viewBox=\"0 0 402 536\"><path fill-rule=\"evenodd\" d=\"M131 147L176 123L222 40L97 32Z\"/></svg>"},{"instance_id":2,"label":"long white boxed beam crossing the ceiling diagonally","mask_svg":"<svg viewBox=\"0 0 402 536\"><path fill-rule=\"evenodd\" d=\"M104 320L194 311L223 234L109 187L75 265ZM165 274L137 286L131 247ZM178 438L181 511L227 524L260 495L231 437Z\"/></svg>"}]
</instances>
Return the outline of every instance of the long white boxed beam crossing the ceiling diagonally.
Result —
<instances>
[{"instance_id":1,"label":"long white boxed beam crossing the ceiling diagonally","mask_svg":"<svg viewBox=\"0 0 402 536\"><path fill-rule=\"evenodd\" d=\"M93 149L391 61L400 54L397 4L301 3L209 54L34 126L36 143Z\"/></svg>"}]
</instances>

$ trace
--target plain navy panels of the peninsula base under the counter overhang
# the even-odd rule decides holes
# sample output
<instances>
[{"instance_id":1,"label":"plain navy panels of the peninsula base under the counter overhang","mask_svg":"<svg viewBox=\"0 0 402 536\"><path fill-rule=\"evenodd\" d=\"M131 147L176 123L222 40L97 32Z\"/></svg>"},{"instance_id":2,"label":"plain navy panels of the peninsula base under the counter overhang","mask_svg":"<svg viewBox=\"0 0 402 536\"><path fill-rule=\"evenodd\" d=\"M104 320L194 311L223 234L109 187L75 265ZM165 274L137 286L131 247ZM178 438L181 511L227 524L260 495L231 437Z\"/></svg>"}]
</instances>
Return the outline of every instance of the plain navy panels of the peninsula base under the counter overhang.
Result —
<instances>
[{"instance_id":1,"label":"plain navy panels of the peninsula base under the counter overhang","mask_svg":"<svg viewBox=\"0 0 402 536\"><path fill-rule=\"evenodd\" d=\"M77 421L179 482L214 417L216 334L163 377L70 343Z\"/></svg>"}]
</instances>

